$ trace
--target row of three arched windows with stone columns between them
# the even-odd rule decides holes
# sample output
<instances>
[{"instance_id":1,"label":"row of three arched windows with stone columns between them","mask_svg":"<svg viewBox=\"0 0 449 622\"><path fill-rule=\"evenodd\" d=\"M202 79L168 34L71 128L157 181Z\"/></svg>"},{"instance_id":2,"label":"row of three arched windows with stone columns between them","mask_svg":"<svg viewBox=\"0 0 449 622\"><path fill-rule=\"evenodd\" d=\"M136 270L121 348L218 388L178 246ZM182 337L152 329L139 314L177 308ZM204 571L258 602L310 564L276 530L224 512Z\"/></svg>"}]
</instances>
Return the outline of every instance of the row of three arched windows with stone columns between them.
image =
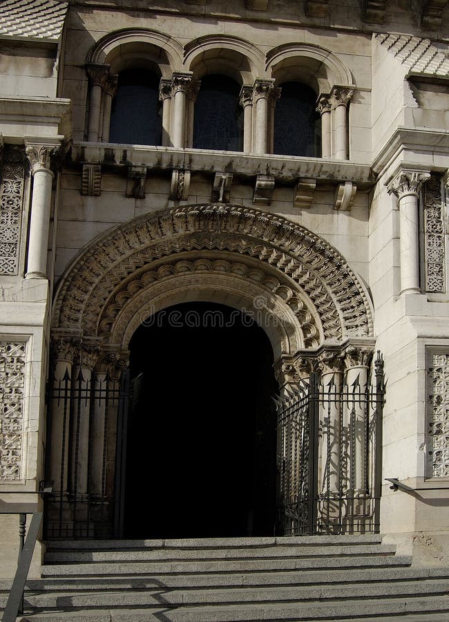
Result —
<instances>
[{"instance_id":1,"label":"row of three arched windows with stone columns between them","mask_svg":"<svg viewBox=\"0 0 449 622\"><path fill-rule=\"evenodd\" d=\"M352 91L331 86L329 76L323 78L323 59L309 48L305 53L316 58L305 62L276 48L271 59L273 77L260 79L254 79L256 61L236 50L213 48L206 57L205 52L193 55L194 47L187 49L186 58L192 56L189 62L184 59L189 70L176 72L169 53L155 44L142 44L138 55L131 44L120 46L120 53L112 48L104 64L87 66L86 138L113 144L347 159L347 104ZM328 92L323 92L323 85Z\"/></svg>"}]
</instances>

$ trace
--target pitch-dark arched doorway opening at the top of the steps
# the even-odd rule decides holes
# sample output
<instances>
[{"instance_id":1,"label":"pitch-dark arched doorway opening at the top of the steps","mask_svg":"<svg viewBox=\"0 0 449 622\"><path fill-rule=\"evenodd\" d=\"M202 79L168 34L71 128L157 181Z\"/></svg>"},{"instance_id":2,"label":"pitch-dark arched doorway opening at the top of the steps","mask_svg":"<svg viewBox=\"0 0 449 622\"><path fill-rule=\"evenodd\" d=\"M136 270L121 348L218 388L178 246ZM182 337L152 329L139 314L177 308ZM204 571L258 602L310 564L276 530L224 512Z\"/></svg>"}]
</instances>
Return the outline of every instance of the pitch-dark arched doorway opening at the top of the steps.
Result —
<instances>
[{"instance_id":1,"label":"pitch-dark arched doorway opening at the top of the steps","mask_svg":"<svg viewBox=\"0 0 449 622\"><path fill-rule=\"evenodd\" d=\"M276 514L271 343L215 303L183 303L130 344L124 536L269 536Z\"/></svg>"}]
</instances>

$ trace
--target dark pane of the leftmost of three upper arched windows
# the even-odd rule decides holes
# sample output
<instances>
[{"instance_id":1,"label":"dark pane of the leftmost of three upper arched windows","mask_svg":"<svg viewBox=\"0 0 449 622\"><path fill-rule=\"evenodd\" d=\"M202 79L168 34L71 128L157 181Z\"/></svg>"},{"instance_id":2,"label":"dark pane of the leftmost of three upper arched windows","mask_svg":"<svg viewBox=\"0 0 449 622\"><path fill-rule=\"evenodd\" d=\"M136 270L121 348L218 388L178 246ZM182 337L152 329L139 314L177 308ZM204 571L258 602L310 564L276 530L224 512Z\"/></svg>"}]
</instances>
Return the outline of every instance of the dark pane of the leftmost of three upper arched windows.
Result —
<instances>
[{"instance_id":1,"label":"dark pane of the leftmost of three upper arched windows","mask_svg":"<svg viewBox=\"0 0 449 622\"><path fill-rule=\"evenodd\" d=\"M161 133L159 78L137 68L122 71L111 109L109 142L160 144Z\"/></svg>"}]
</instances>

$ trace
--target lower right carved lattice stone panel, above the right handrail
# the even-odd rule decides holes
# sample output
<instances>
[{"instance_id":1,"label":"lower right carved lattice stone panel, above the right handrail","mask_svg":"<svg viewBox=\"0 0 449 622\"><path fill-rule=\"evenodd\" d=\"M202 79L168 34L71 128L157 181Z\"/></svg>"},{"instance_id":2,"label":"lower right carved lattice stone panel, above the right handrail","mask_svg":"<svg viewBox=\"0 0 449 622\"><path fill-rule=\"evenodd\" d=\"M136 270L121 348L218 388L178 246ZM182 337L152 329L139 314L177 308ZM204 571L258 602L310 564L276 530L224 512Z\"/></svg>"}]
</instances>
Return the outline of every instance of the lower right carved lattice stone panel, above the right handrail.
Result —
<instances>
[{"instance_id":1,"label":"lower right carved lattice stone panel, above the right handrail","mask_svg":"<svg viewBox=\"0 0 449 622\"><path fill-rule=\"evenodd\" d=\"M427 476L449 477L449 354L430 352L426 395Z\"/></svg>"}]
</instances>

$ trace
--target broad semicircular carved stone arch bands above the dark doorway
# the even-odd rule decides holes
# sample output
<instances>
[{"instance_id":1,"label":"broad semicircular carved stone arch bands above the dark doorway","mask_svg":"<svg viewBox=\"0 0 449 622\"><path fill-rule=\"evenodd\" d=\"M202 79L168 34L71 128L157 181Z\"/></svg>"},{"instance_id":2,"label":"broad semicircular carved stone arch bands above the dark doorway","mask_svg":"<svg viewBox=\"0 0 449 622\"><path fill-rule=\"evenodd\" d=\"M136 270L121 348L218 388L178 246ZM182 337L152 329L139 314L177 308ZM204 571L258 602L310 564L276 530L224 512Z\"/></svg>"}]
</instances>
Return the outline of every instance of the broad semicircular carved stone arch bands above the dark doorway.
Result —
<instances>
[{"instance_id":1,"label":"broad semicircular carved stone arch bands above the dark doorway","mask_svg":"<svg viewBox=\"0 0 449 622\"><path fill-rule=\"evenodd\" d=\"M228 279L242 300L245 288L265 296L264 312L277 309L292 346L372 336L367 292L334 247L285 218L209 204L146 214L95 238L61 279L53 328L123 344L152 296L200 291L208 279Z\"/></svg>"}]
</instances>

